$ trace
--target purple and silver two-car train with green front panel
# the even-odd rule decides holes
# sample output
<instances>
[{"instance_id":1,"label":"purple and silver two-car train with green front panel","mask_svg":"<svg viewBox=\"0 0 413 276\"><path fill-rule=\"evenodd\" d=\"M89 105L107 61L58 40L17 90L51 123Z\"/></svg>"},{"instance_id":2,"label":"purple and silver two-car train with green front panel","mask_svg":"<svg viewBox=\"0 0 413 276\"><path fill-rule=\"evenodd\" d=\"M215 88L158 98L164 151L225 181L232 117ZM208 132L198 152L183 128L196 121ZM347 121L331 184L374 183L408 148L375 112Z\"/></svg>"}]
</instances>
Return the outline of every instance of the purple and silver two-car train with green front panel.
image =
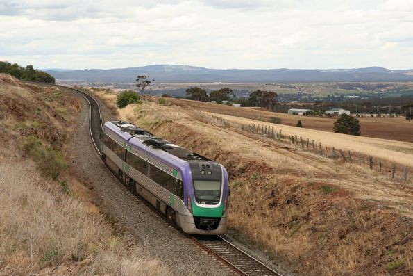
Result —
<instances>
[{"instance_id":1,"label":"purple and silver two-car train with green front panel","mask_svg":"<svg viewBox=\"0 0 413 276\"><path fill-rule=\"evenodd\" d=\"M230 190L223 165L121 121L105 123L102 152L132 193L184 232L226 232Z\"/></svg>"}]
</instances>

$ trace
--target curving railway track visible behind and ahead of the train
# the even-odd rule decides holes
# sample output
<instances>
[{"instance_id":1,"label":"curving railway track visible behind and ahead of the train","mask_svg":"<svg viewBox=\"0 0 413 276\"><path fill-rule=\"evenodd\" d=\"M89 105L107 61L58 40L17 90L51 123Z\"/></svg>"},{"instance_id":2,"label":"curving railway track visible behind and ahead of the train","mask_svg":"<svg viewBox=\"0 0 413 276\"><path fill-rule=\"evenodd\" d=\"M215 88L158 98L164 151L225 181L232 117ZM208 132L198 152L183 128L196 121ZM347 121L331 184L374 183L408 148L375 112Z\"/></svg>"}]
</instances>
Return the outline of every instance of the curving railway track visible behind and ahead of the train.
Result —
<instances>
[{"instance_id":1,"label":"curving railway track visible behind and ahead of the train","mask_svg":"<svg viewBox=\"0 0 413 276\"><path fill-rule=\"evenodd\" d=\"M89 104L89 131L90 140L97 154L101 155L101 135L103 133L103 122L101 117L101 109L98 102L90 94L78 90L76 88L69 88L67 86L60 86L50 83L38 83L35 81L24 81L25 83L42 84L42 86L57 86L62 90L77 92L82 95ZM148 204L146 204L148 205ZM156 210L154 210L156 211ZM165 219L166 220L166 219ZM177 227L175 227L177 229ZM179 229L178 229L179 230ZM188 235L189 236L189 235ZM206 252L212 254L213 257L224 263L235 271L238 275L258 276L258 275L277 275L280 273L269 268L258 259L255 259L250 254L244 252L239 247L230 243L223 236L190 236L192 241L196 243Z\"/></svg>"}]
</instances>

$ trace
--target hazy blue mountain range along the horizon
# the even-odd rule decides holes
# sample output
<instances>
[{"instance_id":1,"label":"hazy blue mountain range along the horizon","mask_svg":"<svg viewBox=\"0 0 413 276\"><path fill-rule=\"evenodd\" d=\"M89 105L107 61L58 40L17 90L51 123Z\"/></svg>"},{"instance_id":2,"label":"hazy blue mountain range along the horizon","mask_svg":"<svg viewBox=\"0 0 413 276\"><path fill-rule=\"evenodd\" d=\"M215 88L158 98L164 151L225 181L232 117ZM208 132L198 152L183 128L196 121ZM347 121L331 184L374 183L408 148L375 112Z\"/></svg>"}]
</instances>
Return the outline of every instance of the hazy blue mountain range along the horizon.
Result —
<instances>
[{"instance_id":1,"label":"hazy blue mountain range along the horizon","mask_svg":"<svg viewBox=\"0 0 413 276\"><path fill-rule=\"evenodd\" d=\"M158 83L226 82L276 83L324 81L413 81L413 70L383 67L356 69L208 69L186 65L149 65L119 69L45 70L57 80L91 83L132 83L137 75L147 75Z\"/></svg>"}]
</instances>

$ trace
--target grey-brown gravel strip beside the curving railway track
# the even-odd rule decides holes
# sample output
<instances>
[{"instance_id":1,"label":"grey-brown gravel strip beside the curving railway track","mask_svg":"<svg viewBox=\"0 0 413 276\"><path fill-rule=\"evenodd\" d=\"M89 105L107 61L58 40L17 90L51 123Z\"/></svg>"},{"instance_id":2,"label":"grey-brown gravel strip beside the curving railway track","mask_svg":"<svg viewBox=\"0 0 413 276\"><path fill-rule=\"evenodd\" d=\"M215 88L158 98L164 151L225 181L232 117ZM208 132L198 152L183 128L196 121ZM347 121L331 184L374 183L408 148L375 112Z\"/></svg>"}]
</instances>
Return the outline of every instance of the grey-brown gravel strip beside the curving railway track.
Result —
<instances>
[{"instance_id":1,"label":"grey-brown gravel strip beside the curving railway track","mask_svg":"<svg viewBox=\"0 0 413 276\"><path fill-rule=\"evenodd\" d=\"M219 261L203 252L157 213L133 196L101 162L90 141L88 104L77 93L72 94L82 103L78 115L78 129L71 137L71 170L92 184L103 212L115 218L149 257L159 259L177 275L234 275ZM103 122L113 120L108 108L99 103Z\"/></svg>"}]
</instances>

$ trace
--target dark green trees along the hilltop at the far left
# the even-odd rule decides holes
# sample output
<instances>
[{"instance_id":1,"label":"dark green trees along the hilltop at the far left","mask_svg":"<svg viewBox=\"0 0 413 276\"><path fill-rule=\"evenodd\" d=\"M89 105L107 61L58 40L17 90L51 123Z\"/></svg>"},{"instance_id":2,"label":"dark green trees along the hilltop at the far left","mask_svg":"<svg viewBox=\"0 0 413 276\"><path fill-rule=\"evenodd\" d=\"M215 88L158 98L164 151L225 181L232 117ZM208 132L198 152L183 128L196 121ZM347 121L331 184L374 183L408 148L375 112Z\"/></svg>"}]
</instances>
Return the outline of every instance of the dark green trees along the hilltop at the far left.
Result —
<instances>
[{"instance_id":1,"label":"dark green trees along the hilltop at the far left","mask_svg":"<svg viewBox=\"0 0 413 276\"><path fill-rule=\"evenodd\" d=\"M17 63L9 63L8 61L0 61L0 73L10 74L17 79L26 81L42 81L44 83L55 83L55 78L47 72L43 72L33 68L33 65L22 67Z\"/></svg>"}]
</instances>

